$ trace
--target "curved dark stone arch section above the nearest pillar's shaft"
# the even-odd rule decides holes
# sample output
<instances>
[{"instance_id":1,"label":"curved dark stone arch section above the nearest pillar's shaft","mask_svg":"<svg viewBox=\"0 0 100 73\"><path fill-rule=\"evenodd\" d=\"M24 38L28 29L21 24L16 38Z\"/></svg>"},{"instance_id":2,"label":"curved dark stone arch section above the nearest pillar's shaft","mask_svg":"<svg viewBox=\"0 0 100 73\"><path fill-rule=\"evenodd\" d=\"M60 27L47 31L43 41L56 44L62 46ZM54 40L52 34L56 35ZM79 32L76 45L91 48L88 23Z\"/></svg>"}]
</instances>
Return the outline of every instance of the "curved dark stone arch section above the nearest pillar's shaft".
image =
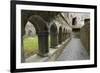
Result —
<instances>
[{"instance_id":1,"label":"curved dark stone arch section above the nearest pillar's shaft","mask_svg":"<svg viewBox=\"0 0 100 73\"><path fill-rule=\"evenodd\" d=\"M46 21L39 15L32 15L28 19L36 28L37 33L48 32L48 26Z\"/></svg>"}]
</instances>

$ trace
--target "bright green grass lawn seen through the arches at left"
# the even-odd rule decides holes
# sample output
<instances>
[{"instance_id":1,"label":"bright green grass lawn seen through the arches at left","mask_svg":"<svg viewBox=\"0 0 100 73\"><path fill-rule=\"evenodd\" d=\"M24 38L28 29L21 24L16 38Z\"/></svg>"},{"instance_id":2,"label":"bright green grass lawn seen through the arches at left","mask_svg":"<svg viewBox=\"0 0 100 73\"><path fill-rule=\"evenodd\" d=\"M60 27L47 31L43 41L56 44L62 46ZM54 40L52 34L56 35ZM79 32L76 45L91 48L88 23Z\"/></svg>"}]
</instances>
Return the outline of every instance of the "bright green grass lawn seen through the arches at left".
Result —
<instances>
[{"instance_id":1,"label":"bright green grass lawn seen through the arches at left","mask_svg":"<svg viewBox=\"0 0 100 73\"><path fill-rule=\"evenodd\" d=\"M38 37L24 37L24 55L25 58L34 55L38 52ZM49 37L49 47L50 47L50 37Z\"/></svg>"}]
</instances>

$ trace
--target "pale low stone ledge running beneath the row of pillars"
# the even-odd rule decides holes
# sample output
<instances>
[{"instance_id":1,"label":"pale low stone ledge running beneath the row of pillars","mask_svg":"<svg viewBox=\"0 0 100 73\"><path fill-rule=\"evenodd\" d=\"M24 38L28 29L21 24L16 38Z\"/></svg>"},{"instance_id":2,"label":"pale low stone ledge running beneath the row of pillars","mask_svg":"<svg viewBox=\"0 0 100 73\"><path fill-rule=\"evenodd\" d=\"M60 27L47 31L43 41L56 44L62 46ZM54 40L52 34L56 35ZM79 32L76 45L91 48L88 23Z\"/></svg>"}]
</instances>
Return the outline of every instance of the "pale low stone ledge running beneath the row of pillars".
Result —
<instances>
[{"instance_id":1,"label":"pale low stone ledge running beneath the row of pillars","mask_svg":"<svg viewBox=\"0 0 100 73\"><path fill-rule=\"evenodd\" d=\"M71 40L71 38L65 40L61 45L58 45L56 48L50 48L49 54L46 57L40 57L37 54L27 58L25 62L48 62L48 61L55 61L59 55L61 55L62 51L64 50L67 43Z\"/></svg>"}]
</instances>

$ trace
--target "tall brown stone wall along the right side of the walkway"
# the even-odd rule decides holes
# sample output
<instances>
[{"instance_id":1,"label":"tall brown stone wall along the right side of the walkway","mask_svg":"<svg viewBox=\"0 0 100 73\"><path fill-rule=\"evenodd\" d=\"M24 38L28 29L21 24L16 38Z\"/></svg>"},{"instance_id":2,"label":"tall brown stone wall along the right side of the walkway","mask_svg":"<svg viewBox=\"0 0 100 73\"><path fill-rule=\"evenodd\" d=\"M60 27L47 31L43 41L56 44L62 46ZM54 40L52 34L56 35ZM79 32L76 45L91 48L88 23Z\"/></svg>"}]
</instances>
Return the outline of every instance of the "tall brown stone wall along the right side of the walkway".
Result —
<instances>
[{"instance_id":1,"label":"tall brown stone wall along the right side of the walkway","mask_svg":"<svg viewBox=\"0 0 100 73\"><path fill-rule=\"evenodd\" d=\"M80 29L80 39L90 54L90 19L84 20L85 25Z\"/></svg>"}]
</instances>

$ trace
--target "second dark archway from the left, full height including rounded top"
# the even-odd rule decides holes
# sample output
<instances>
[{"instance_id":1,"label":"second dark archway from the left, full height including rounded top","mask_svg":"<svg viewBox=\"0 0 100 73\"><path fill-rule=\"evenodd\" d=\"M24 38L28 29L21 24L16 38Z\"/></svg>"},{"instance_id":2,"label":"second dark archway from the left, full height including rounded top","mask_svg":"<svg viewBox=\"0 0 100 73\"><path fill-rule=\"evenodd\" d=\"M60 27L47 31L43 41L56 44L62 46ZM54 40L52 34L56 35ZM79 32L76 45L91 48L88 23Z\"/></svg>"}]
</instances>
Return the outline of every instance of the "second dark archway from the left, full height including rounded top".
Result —
<instances>
[{"instance_id":1,"label":"second dark archway from the left, full height including rounded top","mask_svg":"<svg viewBox=\"0 0 100 73\"><path fill-rule=\"evenodd\" d=\"M55 48L58 45L58 32L56 24L50 27L50 47Z\"/></svg>"}]
</instances>

